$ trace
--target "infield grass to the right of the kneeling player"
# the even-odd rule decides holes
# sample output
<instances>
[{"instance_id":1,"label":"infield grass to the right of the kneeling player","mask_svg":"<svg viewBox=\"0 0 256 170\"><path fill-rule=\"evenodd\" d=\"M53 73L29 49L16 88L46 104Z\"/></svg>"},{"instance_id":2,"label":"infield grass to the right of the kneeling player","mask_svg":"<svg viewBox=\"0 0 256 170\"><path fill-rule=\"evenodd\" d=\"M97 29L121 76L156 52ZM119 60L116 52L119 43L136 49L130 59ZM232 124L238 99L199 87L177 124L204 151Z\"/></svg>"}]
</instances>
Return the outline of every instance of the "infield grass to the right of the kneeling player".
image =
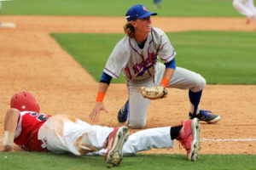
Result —
<instances>
[{"instance_id":1,"label":"infield grass to the right of the kneeling player","mask_svg":"<svg viewBox=\"0 0 256 170\"><path fill-rule=\"evenodd\" d=\"M168 33L177 65L211 84L256 84L256 33L186 31Z\"/></svg>"}]
</instances>

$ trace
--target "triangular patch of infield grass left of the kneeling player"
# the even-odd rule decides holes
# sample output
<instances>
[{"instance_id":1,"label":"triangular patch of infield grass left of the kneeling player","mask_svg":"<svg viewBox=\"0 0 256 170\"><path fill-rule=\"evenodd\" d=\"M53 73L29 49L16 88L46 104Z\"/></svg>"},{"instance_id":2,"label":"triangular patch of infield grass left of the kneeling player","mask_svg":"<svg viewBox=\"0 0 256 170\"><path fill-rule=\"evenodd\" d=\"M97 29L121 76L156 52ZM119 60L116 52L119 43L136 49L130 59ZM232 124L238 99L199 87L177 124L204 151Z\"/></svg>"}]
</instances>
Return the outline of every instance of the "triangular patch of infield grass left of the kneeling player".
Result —
<instances>
[{"instance_id":1,"label":"triangular patch of infield grass left of the kneeling player","mask_svg":"<svg viewBox=\"0 0 256 170\"><path fill-rule=\"evenodd\" d=\"M111 54L114 45L124 35L122 34L50 34L61 47L67 50L86 71L98 82L102 77L103 68ZM119 77L113 82L125 82Z\"/></svg>"}]
</instances>

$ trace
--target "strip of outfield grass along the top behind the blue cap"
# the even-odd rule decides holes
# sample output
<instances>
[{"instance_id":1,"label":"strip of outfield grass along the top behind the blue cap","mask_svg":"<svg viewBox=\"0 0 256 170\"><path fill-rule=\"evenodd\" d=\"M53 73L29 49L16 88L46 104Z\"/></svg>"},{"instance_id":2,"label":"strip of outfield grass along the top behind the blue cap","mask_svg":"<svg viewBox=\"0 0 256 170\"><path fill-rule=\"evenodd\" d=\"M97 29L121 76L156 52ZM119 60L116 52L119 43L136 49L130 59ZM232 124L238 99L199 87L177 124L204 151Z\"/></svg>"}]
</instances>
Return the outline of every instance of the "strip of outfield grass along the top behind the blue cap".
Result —
<instances>
[{"instance_id":1,"label":"strip of outfield grass along the top behind the blue cap","mask_svg":"<svg viewBox=\"0 0 256 170\"><path fill-rule=\"evenodd\" d=\"M124 16L137 3L159 16L241 16L232 0L163 0L161 8L153 0L14 0L3 2L3 14Z\"/></svg>"}]
</instances>

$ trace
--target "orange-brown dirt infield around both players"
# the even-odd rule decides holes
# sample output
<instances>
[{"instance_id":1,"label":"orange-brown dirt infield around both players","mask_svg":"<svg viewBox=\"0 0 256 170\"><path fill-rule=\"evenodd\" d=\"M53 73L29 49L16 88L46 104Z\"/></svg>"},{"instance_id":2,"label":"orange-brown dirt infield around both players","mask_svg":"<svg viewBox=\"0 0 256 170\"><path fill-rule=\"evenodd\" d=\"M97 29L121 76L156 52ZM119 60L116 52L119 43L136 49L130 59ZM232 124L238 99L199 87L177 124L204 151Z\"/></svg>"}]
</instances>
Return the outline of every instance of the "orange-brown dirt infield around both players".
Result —
<instances>
[{"instance_id":1,"label":"orange-brown dirt infield around both players","mask_svg":"<svg viewBox=\"0 0 256 170\"><path fill-rule=\"evenodd\" d=\"M123 32L124 18L1 16L0 20L16 24L15 29L0 28L1 139L9 99L23 90L36 96L44 113L72 114L90 122L97 82L49 37L49 32ZM158 17L153 19L153 25L164 31L256 31L256 25L246 26L244 18ZM177 89L168 92L167 99L153 101L149 106L145 128L176 125L188 118L188 92ZM109 113L102 112L100 122L90 123L119 126L116 113L127 96L125 84L111 84L105 99ZM201 123L201 153L256 154L256 86L207 85L201 108L222 116L217 124ZM185 153L178 143L172 150L146 153L153 152Z\"/></svg>"}]
</instances>

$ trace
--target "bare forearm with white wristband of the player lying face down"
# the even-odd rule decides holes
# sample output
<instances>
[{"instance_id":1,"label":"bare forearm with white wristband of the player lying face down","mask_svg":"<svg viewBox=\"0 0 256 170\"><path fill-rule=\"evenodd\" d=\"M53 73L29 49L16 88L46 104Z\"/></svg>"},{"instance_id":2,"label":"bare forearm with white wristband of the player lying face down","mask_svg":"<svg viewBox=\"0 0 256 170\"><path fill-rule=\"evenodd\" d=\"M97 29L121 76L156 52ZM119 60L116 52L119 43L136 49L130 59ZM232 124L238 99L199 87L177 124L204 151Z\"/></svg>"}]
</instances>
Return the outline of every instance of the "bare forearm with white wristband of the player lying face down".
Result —
<instances>
[{"instance_id":1,"label":"bare forearm with white wristband of the player lying face down","mask_svg":"<svg viewBox=\"0 0 256 170\"><path fill-rule=\"evenodd\" d=\"M4 139L3 139L3 151L13 150L13 144L15 139L15 129L19 120L20 111L16 109L9 109L6 112L4 119Z\"/></svg>"}]
</instances>

